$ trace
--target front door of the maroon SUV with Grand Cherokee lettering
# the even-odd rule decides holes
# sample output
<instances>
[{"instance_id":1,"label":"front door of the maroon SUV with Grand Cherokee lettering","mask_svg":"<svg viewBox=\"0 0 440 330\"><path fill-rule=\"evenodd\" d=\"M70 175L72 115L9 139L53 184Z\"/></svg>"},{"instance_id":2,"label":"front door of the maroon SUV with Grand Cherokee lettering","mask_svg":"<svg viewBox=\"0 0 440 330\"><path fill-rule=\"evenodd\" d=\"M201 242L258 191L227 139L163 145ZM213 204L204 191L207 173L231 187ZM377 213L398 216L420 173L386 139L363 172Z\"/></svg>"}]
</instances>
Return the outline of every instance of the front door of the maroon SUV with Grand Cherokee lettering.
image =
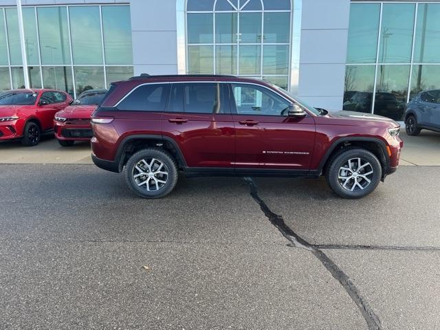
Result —
<instances>
[{"instance_id":1,"label":"front door of the maroon SUV with Grand Cherokee lettering","mask_svg":"<svg viewBox=\"0 0 440 330\"><path fill-rule=\"evenodd\" d=\"M309 169L315 142L311 115L288 117L290 102L259 85L232 84L232 94L237 170Z\"/></svg>"}]
</instances>

